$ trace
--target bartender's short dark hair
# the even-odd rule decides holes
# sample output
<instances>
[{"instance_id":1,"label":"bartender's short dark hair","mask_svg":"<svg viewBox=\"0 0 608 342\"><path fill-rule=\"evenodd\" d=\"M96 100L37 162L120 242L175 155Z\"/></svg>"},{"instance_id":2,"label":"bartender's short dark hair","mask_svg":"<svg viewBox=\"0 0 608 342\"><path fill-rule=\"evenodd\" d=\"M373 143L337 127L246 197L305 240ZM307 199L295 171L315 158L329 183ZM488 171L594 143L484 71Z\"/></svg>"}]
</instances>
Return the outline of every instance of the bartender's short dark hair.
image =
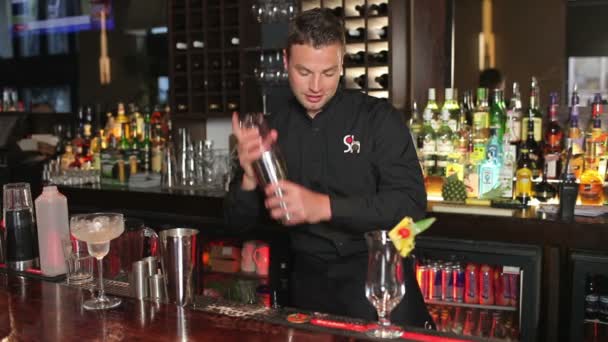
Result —
<instances>
[{"instance_id":1,"label":"bartender's short dark hair","mask_svg":"<svg viewBox=\"0 0 608 342\"><path fill-rule=\"evenodd\" d=\"M289 24L287 56L292 45L308 44L318 49L338 43L344 48L344 26L329 8L313 8L298 14Z\"/></svg>"}]
</instances>

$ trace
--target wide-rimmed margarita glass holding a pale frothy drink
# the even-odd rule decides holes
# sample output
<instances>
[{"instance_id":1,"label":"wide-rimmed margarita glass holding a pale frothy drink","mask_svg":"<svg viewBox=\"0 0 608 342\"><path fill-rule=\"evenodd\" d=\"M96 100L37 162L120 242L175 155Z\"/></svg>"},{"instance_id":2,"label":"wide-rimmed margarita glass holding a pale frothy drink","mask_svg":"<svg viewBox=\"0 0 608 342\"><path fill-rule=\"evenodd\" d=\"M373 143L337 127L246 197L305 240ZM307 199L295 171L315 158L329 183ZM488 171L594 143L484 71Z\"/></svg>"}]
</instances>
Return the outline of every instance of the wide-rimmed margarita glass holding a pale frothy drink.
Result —
<instances>
[{"instance_id":1,"label":"wide-rimmed margarita glass holding a pale frothy drink","mask_svg":"<svg viewBox=\"0 0 608 342\"><path fill-rule=\"evenodd\" d=\"M108 297L103 289L103 257L110 251L110 241L125 231L122 214L94 213L74 215L70 219L70 230L75 238L87 243L89 254L97 259L99 289L96 298L83 303L87 310L111 309L120 305L120 298Z\"/></svg>"}]
</instances>

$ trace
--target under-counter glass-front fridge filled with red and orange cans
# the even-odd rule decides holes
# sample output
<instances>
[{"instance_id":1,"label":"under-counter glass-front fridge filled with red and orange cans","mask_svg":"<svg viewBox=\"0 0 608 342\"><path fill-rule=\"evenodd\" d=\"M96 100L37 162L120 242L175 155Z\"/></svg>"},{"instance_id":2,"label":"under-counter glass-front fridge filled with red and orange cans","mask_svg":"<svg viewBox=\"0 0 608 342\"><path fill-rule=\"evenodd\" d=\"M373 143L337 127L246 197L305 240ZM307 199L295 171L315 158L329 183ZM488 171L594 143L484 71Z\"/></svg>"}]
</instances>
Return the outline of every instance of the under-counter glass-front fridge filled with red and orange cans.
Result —
<instances>
[{"instance_id":1,"label":"under-counter glass-front fridge filled with red and orange cans","mask_svg":"<svg viewBox=\"0 0 608 342\"><path fill-rule=\"evenodd\" d=\"M420 237L414 255L418 283L438 330L537 339L540 247Z\"/></svg>"}]
</instances>

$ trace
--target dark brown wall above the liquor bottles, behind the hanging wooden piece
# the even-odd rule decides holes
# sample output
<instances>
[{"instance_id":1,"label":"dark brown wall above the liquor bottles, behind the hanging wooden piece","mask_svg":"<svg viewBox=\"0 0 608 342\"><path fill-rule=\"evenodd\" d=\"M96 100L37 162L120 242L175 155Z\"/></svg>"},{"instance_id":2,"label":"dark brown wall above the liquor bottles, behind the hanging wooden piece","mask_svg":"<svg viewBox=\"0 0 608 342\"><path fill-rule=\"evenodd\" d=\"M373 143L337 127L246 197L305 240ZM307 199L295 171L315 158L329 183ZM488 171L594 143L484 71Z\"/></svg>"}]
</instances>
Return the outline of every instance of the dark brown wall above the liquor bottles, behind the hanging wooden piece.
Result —
<instances>
[{"instance_id":1,"label":"dark brown wall above the liquor bottles, behind the hanging wooden piece","mask_svg":"<svg viewBox=\"0 0 608 342\"><path fill-rule=\"evenodd\" d=\"M455 86L477 87L481 0L455 2ZM566 0L495 0L493 31L496 67L511 83L520 82L524 103L534 75L540 81L542 105L549 92L566 90ZM525 10L524 10L525 9ZM577 28L578 29L578 28Z\"/></svg>"}]
</instances>

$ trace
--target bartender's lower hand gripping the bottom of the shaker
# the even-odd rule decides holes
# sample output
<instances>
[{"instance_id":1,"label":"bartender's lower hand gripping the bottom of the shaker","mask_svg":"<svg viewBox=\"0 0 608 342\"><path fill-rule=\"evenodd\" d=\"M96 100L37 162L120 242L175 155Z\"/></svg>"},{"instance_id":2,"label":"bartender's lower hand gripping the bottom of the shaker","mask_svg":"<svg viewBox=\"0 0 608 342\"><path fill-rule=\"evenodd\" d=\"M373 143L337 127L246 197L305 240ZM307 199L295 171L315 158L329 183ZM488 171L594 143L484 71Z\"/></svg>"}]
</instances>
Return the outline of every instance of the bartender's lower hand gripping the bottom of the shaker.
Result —
<instances>
[{"instance_id":1,"label":"bartender's lower hand gripping the bottom of the shaker","mask_svg":"<svg viewBox=\"0 0 608 342\"><path fill-rule=\"evenodd\" d=\"M329 196L282 180L269 184L266 189L265 205L270 216L292 226L301 223L318 223L331 219ZM281 196L278 196L280 194ZM285 217L289 215L289 220Z\"/></svg>"}]
</instances>

